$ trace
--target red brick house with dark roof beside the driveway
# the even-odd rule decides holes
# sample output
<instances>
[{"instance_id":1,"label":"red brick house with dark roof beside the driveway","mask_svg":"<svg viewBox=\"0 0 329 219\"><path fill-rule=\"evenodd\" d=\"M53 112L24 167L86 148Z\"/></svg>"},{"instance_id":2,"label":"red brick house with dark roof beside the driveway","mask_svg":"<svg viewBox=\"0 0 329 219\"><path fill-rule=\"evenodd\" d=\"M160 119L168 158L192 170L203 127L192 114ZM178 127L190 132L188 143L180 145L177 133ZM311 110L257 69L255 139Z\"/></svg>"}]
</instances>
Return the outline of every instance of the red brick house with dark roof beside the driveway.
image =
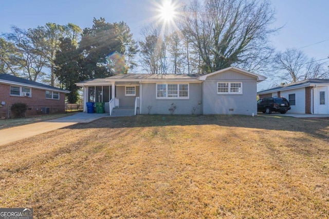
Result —
<instances>
[{"instance_id":1,"label":"red brick house with dark roof beside the driveway","mask_svg":"<svg viewBox=\"0 0 329 219\"><path fill-rule=\"evenodd\" d=\"M69 91L0 74L0 117L10 117L10 107L14 103L27 104L26 116L64 113L65 93Z\"/></svg>"}]
</instances>

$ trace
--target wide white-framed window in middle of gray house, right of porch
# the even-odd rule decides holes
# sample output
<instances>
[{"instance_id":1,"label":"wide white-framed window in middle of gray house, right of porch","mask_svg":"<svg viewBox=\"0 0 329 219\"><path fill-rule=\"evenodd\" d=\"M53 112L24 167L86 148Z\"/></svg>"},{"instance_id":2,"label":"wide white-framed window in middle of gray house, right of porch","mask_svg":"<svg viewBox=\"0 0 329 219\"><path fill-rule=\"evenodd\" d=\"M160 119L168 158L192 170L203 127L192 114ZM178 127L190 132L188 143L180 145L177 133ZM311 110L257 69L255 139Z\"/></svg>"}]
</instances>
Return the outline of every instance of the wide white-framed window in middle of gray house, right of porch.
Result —
<instances>
[{"instance_id":1,"label":"wide white-framed window in middle of gray house, right of porch","mask_svg":"<svg viewBox=\"0 0 329 219\"><path fill-rule=\"evenodd\" d=\"M157 84L157 98L189 98L188 84Z\"/></svg>"}]
</instances>

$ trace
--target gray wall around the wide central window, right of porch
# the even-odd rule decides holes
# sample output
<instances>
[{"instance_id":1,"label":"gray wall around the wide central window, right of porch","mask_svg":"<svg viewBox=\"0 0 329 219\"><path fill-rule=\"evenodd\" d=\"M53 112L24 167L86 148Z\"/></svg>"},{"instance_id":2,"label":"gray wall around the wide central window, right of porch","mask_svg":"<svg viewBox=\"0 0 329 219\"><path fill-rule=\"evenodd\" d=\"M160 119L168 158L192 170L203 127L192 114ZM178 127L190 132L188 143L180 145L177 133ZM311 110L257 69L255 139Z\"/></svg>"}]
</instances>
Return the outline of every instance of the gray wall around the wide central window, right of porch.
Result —
<instances>
[{"instance_id":1,"label":"gray wall around the wide central window, right of porch","mask_svg":"<svg viewBox=\"0 0 329 219\"><path fill-rule=\"evenodd\" d=\"M203 113L202 83L189 84L189 99L157 99L155 83L143 83L141 86L141 114L148 114L149 106L152 107L150 114L171 114L171 104L176 106L173 114L192 114L193 107L197 107L194 114Z\"/></svg>"}]
</instances>

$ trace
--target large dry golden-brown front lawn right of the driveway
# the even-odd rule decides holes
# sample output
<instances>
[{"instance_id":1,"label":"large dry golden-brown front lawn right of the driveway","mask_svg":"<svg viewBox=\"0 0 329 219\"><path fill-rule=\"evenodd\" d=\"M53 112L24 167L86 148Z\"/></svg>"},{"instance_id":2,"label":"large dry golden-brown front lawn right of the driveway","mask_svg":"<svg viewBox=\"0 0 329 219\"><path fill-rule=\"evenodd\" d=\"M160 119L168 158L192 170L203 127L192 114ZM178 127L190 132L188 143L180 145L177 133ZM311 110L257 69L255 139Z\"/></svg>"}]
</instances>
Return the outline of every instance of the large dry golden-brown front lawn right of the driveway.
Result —
<instances>
[{"instance_id":1,"label":"large dry golden-brown front lawn right of the driveway","mask_svg":"<svg viewBox=\"0 0 329 219\"><path fill-rule=\"evenodd\" d=\"M328 218L329 120L101 118L0 146L34 218Z\"/></svg>"}]
</instances>

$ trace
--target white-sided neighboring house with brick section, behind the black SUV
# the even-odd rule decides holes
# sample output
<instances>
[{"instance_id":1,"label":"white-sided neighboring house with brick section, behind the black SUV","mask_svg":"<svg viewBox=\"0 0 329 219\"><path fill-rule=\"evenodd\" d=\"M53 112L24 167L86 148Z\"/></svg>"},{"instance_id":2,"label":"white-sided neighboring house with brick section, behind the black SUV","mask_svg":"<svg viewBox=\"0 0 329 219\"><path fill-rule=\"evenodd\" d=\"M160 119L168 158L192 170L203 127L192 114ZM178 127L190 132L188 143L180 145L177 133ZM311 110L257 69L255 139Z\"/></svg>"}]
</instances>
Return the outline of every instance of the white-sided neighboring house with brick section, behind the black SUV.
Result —
<instances>
[{"instance_id":1,"label":"white-sided neighboring house with brick section, behind the black SUV","mask_svg":"<svg viewBox=\"0 0 329 219\"><path fill-rule=\"evenodd\" d=\"M260 98L285 97L289 113L329 114L329 79L305 79L257 93Z\"/></svg>"}]
</instances>

